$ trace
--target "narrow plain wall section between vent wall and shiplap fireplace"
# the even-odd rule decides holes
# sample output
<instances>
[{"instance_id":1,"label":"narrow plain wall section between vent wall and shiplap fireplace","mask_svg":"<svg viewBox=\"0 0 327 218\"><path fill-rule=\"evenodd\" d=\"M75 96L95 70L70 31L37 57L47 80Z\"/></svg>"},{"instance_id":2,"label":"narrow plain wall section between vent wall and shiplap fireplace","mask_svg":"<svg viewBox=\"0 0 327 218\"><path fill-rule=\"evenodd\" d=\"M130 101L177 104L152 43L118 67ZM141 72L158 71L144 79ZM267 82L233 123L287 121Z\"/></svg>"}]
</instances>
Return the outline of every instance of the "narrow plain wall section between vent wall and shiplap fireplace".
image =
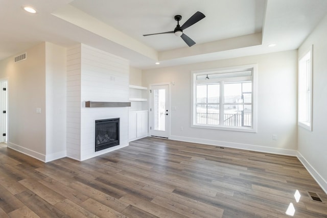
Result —
<instances>
[{"instance_id":1,"label":"narrow plain wall section between vent wall and shiplap fireplace","mask_svg":"<svg viewBox=\"0 0 327 218\"><path fill-rule=\"evenodd\" d=\"M66 49L45 42L46 159L66 157Z\"/></svg>"}]
</instances>

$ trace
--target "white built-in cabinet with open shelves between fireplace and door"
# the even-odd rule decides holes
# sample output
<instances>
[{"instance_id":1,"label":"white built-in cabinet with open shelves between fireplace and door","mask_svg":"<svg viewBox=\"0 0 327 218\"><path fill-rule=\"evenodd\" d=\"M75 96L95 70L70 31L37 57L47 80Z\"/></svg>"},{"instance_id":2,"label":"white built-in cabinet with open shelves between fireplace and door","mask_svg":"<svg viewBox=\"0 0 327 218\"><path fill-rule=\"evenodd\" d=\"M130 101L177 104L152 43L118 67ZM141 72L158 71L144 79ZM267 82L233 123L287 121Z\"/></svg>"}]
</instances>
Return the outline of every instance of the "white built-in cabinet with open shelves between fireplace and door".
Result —
<instances>
[{"instance_id":1,"label":"white built-in cabinet with open shelves between fireplace and door","mask_svg":"<svg viewBox=\"0 0 327 218\"><path fill-rule=\"evenodd\" d=\"M129 85L129 141L148 136L148 88Z\"/></svg>"}]
</instances>

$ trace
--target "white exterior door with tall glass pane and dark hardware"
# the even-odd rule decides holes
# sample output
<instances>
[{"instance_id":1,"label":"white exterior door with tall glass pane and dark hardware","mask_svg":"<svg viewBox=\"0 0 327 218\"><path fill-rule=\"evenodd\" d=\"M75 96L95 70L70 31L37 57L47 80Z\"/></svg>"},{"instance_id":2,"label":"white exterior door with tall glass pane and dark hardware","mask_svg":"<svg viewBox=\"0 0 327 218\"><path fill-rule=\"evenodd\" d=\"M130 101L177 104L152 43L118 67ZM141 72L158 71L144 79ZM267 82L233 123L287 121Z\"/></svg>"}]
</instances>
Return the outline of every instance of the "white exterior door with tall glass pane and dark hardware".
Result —
<instances>
[{"instance_id":1,"label":"white exterior door with tall glass pane and dark hardware","mask_svg":"<svg viewBox=\"0 0 327 218\"><path fill-rule=\"evenodd\" d=\"M150 135L169 137L169 85L151 86Z\"/></svg>"}]
</instances>

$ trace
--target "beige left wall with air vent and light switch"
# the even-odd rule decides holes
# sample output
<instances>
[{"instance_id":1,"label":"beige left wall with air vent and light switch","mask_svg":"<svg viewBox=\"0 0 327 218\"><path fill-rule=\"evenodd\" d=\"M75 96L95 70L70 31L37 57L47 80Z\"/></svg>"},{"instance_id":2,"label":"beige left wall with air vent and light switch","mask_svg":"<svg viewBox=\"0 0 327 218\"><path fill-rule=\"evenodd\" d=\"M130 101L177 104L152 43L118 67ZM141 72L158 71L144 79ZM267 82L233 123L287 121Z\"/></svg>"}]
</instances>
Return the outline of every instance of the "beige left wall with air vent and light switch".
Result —
<instances>
[{"instance_id":1,"label":"beige left wall with air vent and light switch","mask_svg":"<svg viewBox=\"0 0 327 218\"><path fill-rule=\"evenodd\" d=\"M25 52L24 61L0 62L0 78L8 78L8 147L45 161L45 43Z\"/></svg>"}]
</instances>

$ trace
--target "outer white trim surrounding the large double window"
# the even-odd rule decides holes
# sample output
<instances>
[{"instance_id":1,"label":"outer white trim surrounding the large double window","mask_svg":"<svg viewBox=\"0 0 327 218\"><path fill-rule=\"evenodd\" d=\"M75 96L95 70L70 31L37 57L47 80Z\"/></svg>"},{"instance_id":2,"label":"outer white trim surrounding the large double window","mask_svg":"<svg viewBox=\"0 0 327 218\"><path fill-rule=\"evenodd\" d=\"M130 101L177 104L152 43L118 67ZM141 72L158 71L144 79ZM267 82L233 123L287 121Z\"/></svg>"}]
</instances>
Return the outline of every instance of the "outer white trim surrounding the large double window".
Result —
<instances>
[{"instance_id":1,"label":"outer white trim surrounding the large double window","mask_svg":"<svg viewBox=\"0 0 327 218\"><path fill-rule=\"evenodd\" d=\"M214 72L232 72L237 70L244 70L244 69L253 69L253 90L252 90L252 127L223 127L223 126L211 126L211 125L201 125L195 124L194 120L196 120L196 115L194 113L195 109L195 102L196 102L196 90L194 88L196 75L197 74L213 74ZM246 77L242 77L245 79ZM241 78L240 78L241 79ZM231 79L233 80L233 79ZM202 128L202 129L216 129L216 130L226 130L226 131L238 131L238 132L258 132L258 64L249 64L249 65L241 65L241 66L232 66L232 67L223 67L223 68L215 68L215 69L205 69L205 70L192 70L191 71L191 128ZM222 102L220 104L223 104Z\"/></svg>"}]
</instances>

